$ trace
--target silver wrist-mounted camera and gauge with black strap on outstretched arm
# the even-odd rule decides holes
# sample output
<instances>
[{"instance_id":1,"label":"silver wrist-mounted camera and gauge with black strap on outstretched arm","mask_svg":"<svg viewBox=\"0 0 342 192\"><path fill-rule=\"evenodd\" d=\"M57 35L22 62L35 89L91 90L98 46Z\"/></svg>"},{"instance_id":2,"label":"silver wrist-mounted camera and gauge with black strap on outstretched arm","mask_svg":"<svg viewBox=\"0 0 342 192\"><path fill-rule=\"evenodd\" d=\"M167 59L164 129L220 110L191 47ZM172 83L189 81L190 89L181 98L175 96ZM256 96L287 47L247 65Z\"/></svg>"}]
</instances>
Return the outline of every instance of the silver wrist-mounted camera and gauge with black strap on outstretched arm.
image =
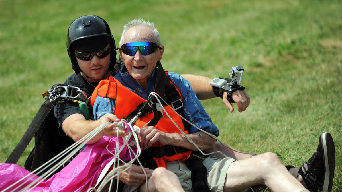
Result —
<instances>
[{"instance_id":1,"label":"silver wrist-mounted camera and gauge with black strap on outstretched arm","mask_svg":"<svg viewBox=\"0 0 342 192\"><path fill-rule=\"evenodd\" d=\"M229 76L232 79L228 78L214 78L210 85L213 86L213 92L216 96L223 96L223 91L227 92L227 100L231 103L235 101L232 99L232 93L237 90L244 90L245 87L241 86L242 73L244 72L244 68L242 66L232 67L232 72L229 73ZM228 83L228 84L227 84Z\"/></svg>"}]
</instances>

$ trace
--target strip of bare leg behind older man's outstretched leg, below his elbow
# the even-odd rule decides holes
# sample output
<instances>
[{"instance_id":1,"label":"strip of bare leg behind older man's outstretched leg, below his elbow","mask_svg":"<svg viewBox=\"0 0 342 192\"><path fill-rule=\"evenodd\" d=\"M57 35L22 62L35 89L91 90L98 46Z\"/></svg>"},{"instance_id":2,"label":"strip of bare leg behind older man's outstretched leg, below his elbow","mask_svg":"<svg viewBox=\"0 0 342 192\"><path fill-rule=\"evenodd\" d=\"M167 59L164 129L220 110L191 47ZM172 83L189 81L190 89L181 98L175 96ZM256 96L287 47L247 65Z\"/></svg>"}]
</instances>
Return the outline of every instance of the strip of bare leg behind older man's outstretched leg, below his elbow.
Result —
<instances>
[{"instance_id":1,"label":"strip of bare leg behind older man's outstretched leg, below his elbow","mask_svg":"<svg viewBox=\"0 0 342 192\"><path fill-rule=\"evenodd\" d=\"M229 147L232 148L231 146L229 146ZM234 148L232 148L232 149L234 149ZM207 151L207 153L212 153L215 151L221 151L227 157L231 157L231 158L238 160L238 161L248 159L248 158L254 156L253 154L239 153L239 152L236 152L238 150L234 149L236 151L233 151L232 149L225 147L224 145L222 145L220 142L217 141L212 150L206 150L206 151ZM226 156L222 155L221 153L214 153L213 155L215 155L216 157L219 157L221 159L226 157Z\"/></svg>"}]
</instances>

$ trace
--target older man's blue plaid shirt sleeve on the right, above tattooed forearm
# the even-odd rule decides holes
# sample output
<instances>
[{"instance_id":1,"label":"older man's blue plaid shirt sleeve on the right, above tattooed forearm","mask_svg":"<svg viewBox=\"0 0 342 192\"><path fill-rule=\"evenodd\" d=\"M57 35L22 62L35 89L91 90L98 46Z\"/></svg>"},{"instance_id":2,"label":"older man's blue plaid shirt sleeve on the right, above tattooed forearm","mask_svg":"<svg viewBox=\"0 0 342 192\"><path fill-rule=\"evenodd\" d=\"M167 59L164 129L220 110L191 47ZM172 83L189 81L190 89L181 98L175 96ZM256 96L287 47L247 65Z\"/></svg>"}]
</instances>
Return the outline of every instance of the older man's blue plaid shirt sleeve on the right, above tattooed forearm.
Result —
<instances>
[{"instance_id":1,"label":"older man's blue plaid shirt sleeve on the right, above tattooed forearm","mask_svg":"<svg viewBox=\"0 0 342 192\"><path fill-rule=\"evenodd\" d=\"M206 132L211 132L218 137L219 129L215 124L213 124L208 112L205 110L194 90L191 88L190 83L177 73L169 72L168 76L182 93L185 118L195 125L190 125L190 133L200 131L196 128L198 127Z\"/></svg>"}]
</instances>

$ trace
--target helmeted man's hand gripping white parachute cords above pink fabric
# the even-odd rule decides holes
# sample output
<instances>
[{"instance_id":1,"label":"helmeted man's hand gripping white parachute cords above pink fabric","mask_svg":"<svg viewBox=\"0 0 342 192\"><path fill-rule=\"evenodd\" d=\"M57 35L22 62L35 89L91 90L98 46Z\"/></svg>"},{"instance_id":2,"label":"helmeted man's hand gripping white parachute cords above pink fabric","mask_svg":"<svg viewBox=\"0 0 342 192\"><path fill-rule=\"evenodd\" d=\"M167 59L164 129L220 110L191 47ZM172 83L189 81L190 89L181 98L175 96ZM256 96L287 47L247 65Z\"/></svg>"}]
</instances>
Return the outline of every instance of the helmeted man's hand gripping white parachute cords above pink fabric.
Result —
<instances>
[{"instance_id":1,"label":"helmeted man's hand gripping white parachute cords above pink fabric","mask_svg":"<svg viewBox=\"0 0 342 192\"><path fill-rule=\"evenodd\" d=\"M119 122L120 120L116 117L116 115L107 113L107 114L103 115L100 119L98 119L97 121L100 123L100 125L102 125L103 123ZM111 124L111 125L106 126L101 131L101 134L112 137L112 136L117 136L118 132L119 132L119 137L126 136L126 132L118 129L115 126L115 124Z\"/></svg>"}]
</instances>

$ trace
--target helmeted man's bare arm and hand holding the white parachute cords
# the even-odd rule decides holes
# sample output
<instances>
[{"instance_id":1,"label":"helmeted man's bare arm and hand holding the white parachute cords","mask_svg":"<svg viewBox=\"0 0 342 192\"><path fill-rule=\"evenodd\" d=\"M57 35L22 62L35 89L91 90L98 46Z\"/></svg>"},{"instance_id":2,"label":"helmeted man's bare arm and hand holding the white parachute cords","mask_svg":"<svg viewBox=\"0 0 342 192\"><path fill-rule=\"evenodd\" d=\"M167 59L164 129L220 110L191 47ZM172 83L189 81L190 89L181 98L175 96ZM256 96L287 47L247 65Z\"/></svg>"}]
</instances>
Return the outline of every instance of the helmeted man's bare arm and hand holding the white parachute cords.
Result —
<instances>
[{"instance_id":1,"label":"helmeted man's bare arm and hand holding the white parachute cords","mask_svg":"<svg viewBox=\"0 0 342 192\"><path fill-rule=\"evenodd\" d=\"M68 116L68 118L63 121L62 129L74 141L78 141L103 123L118 121L119 119L114 114L109 113L103 115L97 121L86 120L83 115L76 113ZM104 135L117 136L117 131L114 124L108 125L90 140L87 145L95 143ZM119 136L126 136L126 132L119 130Z\"/></svg>"}]
</instances>

